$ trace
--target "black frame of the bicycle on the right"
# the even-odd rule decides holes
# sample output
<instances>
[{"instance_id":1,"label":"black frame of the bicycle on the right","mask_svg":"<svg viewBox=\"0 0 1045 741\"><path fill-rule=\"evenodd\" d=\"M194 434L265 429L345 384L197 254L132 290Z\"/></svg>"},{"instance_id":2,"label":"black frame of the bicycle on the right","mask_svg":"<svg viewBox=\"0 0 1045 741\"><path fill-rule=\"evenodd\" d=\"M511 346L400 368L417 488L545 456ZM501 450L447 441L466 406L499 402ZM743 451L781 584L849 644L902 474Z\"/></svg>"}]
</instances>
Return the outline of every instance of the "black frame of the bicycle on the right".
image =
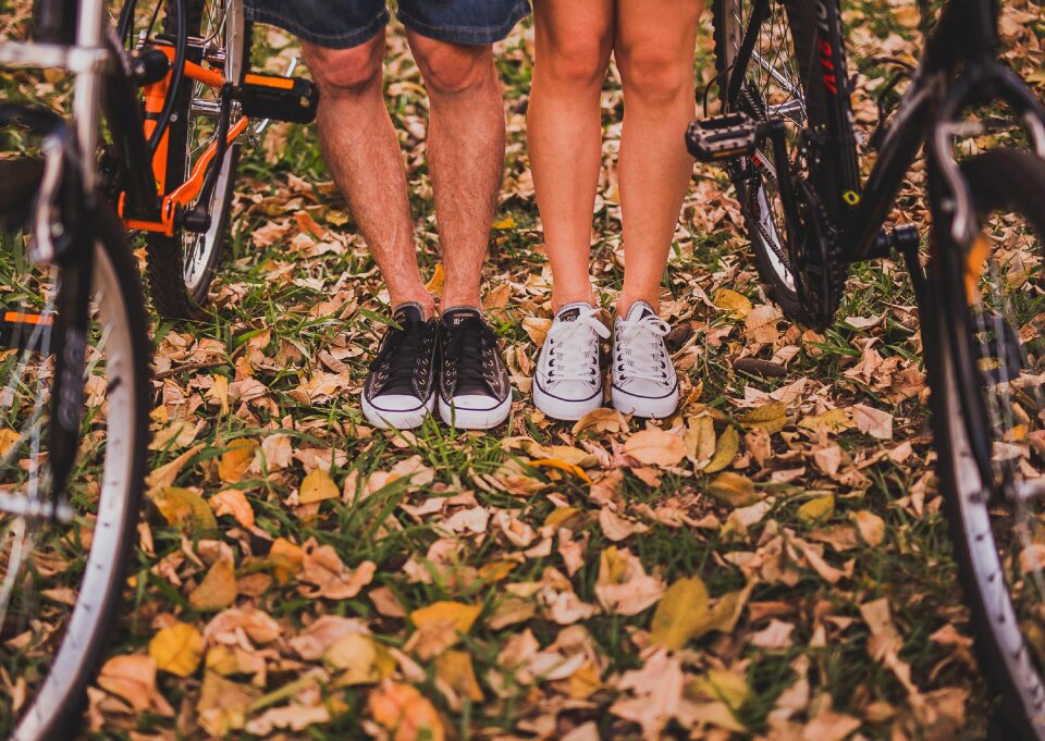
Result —
<instances>
[{"instance_id":1,"label":"black frame of the bicycle on the right","mask_svg":"<svg viewBox=\"0 0 1045 741\"><path fill-rule=\"evenodd\" d=\"M734 71L724 81L728 100L735 101L751 59L759 28L775 0L755 0ZM782 0L788 2L791 0ZM819 59L819 74L808 75L810 84L824 87L827 100L826 157L814 157L812 176L833 184L837 198L825 202L837 232L845 262L886 257L897 246L882 229L899 193L905 175L922 145L927 144L931 181L946 187L939 201L951 222L947 230L959 244L975 233L969 196L951 152L960 125L955 116L976 99L1003 99L1012 106L1031 134L1037 153L1045 157L1045 108L1026 85L997 61L997 11L992 0L951 0L941 13L925 53L903 95L896 116L878 149L866 181L858 174L856 140L849 104L845 37L835 0L815 0L816 29L811 47ZM800 60L801 64L802 61ZM812 146L816 146L815 143ZM792 230L794 203L788 182L782 182L782 198ZM824 194L825 198L827 194ZM954 202L954 207L950 203ZM948 215L948 209L952 217ZM791 239L795 234L790 234Z\"/></svg>"}]
</instances>

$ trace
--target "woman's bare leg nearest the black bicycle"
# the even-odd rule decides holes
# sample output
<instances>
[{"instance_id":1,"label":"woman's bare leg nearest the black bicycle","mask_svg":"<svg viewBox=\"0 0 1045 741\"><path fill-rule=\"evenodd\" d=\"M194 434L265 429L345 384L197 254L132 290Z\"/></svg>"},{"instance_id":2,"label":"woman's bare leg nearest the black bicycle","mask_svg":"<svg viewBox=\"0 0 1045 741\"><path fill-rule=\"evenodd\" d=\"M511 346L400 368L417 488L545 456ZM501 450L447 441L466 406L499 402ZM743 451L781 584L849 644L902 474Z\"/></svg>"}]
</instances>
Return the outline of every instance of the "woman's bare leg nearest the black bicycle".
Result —
<instances>
[{"instance_id":1,"label":"woman's bare leg nearest the black bicycle","mask_svg":"<svg viewBox=\"0 0 1045 741\"><path fill-rule=\"evenodd\" d=\"M614 57L624 81L617 175L624 220L624 289L660 308L660 285L693 171L684 135L693 118L693 50L703 0L617 3Z\"/></svg>"}]
</instances>

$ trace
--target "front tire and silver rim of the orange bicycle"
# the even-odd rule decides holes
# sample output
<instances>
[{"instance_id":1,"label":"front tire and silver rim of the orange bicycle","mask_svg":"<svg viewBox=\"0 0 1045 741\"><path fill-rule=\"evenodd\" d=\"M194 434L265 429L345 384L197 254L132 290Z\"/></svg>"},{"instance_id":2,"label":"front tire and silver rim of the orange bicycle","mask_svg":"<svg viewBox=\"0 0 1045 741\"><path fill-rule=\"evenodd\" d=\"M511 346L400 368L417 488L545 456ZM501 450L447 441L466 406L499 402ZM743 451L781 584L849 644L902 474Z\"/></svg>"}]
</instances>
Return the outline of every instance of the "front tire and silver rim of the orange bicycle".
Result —
<instances>
[{"instance_id":1,"label":"front tire and silver rim of the orange bicycle","mask_svg":"<svg viewBox=\"0 0 1045 741\"><path fill-rule=\"evenodd\" d=\"M4 725L16 723L11 741L72 738L79 725L86 688L110 644L137 542L148 467L151 343L139 273L126 232L111 207L100 198L98 202L93 220L91 293L96 316L108 332L103 335L107 430L95 520L97 536L90 541L67 631L52 654L49 671L22 708L16 713L3 708Z\"/></svg>"}]
</instances>

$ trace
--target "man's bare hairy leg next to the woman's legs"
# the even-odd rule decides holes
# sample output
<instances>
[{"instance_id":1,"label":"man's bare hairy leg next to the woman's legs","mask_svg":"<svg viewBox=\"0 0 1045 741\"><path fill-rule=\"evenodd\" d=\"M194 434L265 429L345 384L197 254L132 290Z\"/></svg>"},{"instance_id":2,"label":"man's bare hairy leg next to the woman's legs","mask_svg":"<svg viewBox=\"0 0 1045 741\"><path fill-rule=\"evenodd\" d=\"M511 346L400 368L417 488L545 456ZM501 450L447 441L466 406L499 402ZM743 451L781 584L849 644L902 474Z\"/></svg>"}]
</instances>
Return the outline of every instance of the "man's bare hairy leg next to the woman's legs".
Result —
<instances>
[{"instance_id":1,"label":"man's bare hairy leg next to the woman's legs","mask_svg":"<svg viewBox=\"0 0 1045 741\"><path fill-rule=\"evenodd\" d=\"M489 46L407 29L429 96L428 166L445 280L442 309L478 308L490 226L504 178L504 102Z\"/></svg>"}]
</instances>

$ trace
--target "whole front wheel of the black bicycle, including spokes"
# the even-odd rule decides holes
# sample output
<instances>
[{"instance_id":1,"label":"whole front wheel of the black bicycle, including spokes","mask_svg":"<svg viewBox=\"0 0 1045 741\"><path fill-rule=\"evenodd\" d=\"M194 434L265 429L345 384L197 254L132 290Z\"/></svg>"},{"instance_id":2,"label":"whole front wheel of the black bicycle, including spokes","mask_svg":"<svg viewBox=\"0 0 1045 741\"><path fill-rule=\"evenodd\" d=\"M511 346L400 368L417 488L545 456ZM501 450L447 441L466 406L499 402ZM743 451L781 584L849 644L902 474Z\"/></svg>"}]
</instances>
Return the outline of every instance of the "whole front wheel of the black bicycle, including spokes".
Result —
<instances>
[{"instance_id":1,"label":"whole front wheel of the black bicycle, including spokes","mask_svg":"<svg viewBox=\"0 0 1045 741\"><path fill-rule=\"evenodd\" d=\"M999 717L1045 739L1045 162L961 169L982 232L964 261L933 256L923 307L938 478Z\"/></svg>"}]
</instances>

